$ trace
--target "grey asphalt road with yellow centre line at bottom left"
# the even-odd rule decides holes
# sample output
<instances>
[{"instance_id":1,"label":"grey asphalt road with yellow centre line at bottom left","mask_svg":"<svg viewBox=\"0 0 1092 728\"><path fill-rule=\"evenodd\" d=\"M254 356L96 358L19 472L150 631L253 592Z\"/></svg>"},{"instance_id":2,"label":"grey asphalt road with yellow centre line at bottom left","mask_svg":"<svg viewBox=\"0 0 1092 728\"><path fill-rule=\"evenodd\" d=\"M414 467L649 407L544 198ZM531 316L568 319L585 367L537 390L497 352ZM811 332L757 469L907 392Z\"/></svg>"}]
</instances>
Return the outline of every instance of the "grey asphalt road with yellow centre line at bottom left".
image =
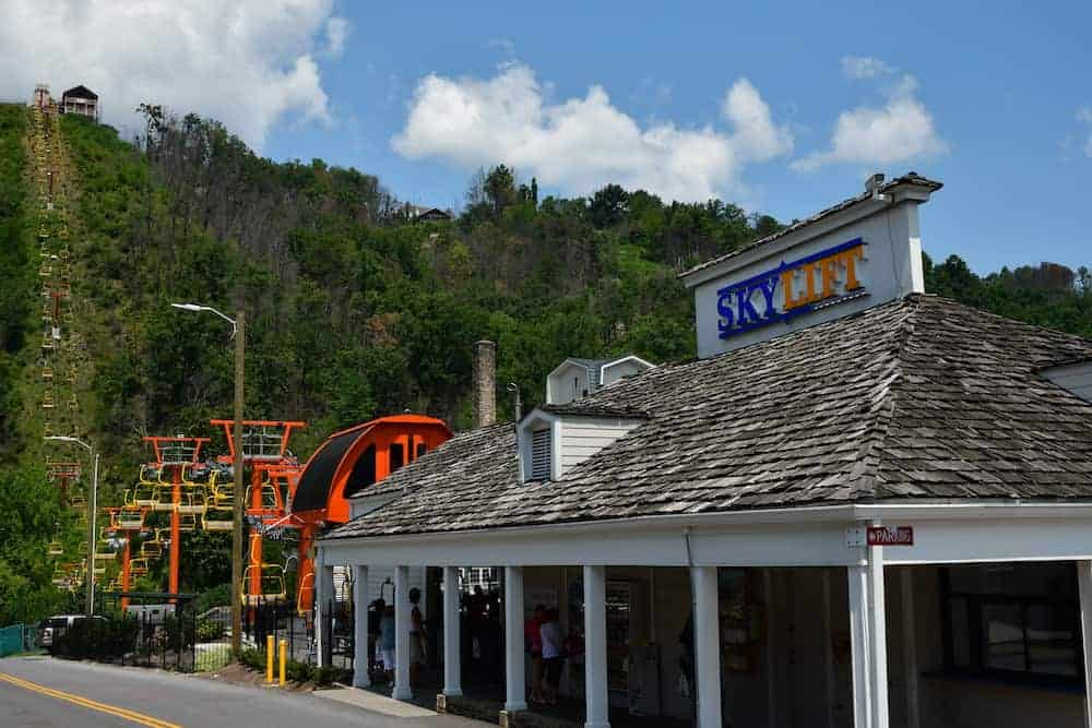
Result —
<instances>
[{"instance_id":1,"label":"grey asphalt road with yellow centre line at bottom left","mask_svg":"<svg viewBox=\"0 0 1092 728\"><path fill-rule=\"evenodd\" d=\"M44 692L45 691L45 692ZM284 693L141 668L45 657L0 659L0 726L34 728L473 728L483 724L439 716L360 691L367 707L329 697ZM92 701L93 703L88 703Z\"/></svg>"}]
</instances>

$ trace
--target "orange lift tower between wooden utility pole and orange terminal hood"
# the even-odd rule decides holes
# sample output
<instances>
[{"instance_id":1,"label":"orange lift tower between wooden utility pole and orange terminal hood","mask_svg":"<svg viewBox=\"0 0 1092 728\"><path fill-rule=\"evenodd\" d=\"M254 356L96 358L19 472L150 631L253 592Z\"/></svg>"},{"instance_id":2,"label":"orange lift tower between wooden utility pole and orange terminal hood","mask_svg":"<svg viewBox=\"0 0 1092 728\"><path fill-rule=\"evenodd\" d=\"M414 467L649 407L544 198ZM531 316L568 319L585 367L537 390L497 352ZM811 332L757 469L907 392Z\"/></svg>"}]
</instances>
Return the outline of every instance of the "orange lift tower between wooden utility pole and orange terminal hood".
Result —
<instances>
[{"instance_id":1,"label":"orange lift tower between wooden utility pole and orange terminal hood","mask_svg":"<svg viewBox=\"0 0 1092 728\"><path fill-rule=\"evenodd\" d=\"M217 458L224 464L235 463L234 419L214 419L212 425L224 428L228 454ZM286 420L242 420L242 466L250 467L250 485L247 487L245 505L247 520L251 522L250 559L244 571L244 604L254 601L263 594L263 574L269 576L262 560L262 535L272 518L285 513L285 498L295 488L302 469L299 461L288 450L288 441L294 430L307 427L306 422ZM239 493L235 493L239 497ZM259 525L261 524L261 525ZM271 566L272 568L272 566ZM283 583L283 566L277 564ZM277 577L274 575L274 581ZM282 595L277 595L282 596Z\"/></svg>"}]
</instances>

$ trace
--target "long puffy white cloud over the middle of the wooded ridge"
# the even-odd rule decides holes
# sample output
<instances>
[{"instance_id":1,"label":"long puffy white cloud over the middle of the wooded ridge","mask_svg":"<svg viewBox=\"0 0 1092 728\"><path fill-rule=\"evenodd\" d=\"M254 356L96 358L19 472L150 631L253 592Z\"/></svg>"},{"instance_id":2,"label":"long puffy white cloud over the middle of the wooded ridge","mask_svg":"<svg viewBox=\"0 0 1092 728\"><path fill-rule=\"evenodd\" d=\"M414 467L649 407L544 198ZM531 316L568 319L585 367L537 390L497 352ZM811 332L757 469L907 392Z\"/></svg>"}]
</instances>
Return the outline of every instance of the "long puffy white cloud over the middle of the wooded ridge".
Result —
<instances>
[{"instance_id":1,"label":"long puffy white cloud over the middle of the wooded ridge","mask_svg":"<svg viewBox=\"0 0 1092 728\"><path fill-rule=\"evenodd\" d=\"M394 150L465 168L503 163L568 193L608 182L668 199L708 200L738 190L745 164L787 154L792 135L746 79L725 94L728 129L644 128L594 85L583 97L549 99L550 88L521 63L491 79L422 79Z\"/></svg>"}]
</instances>

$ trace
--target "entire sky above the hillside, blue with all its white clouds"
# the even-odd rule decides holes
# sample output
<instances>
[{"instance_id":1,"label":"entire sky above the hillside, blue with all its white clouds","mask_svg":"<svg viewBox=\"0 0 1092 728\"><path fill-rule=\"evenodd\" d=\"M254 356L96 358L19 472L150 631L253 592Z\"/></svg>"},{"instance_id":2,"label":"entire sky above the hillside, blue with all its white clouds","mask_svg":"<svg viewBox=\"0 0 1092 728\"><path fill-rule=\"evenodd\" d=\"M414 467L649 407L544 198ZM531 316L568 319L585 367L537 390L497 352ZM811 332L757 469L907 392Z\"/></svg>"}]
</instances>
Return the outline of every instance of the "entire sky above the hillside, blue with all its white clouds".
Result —
<instances>
[{"instance_id":1,"label":"entire sky above the hillside, blue with all its white clouds","mask_svg":"<svg viewBox=\"0 0 1092 728\"><path fill-rule=\"evenodd\" d=\"M547 193L618 181L788 220L914 169L946 184L934 258L1092 264L1087 1L9 2L0 97L86 83L122 129L156 100L412 202L456 206L507 163Z\"/></svg>"}]
</instances>

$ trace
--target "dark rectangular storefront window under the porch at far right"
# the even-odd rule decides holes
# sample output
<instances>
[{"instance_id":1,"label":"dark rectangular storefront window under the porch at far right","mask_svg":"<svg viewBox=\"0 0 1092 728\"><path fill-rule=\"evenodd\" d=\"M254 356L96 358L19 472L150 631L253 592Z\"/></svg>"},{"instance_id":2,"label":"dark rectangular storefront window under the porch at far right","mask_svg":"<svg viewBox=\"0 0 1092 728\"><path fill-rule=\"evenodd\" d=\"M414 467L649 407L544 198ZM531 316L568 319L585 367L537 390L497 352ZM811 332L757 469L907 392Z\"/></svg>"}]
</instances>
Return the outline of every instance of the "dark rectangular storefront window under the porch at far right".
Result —
<instances>
[{"instance_id":1,"label":"dark rectangular storefront window under the porch at far right","mask_svg":"<svg viewBox=\"0 0 1092 728\"><path fill-rule=\"evenodd\" d=\"M952 566L941 575L949 669L1061 679L1081 675L1072 564Z\"/></svg>"}]
</instances>

